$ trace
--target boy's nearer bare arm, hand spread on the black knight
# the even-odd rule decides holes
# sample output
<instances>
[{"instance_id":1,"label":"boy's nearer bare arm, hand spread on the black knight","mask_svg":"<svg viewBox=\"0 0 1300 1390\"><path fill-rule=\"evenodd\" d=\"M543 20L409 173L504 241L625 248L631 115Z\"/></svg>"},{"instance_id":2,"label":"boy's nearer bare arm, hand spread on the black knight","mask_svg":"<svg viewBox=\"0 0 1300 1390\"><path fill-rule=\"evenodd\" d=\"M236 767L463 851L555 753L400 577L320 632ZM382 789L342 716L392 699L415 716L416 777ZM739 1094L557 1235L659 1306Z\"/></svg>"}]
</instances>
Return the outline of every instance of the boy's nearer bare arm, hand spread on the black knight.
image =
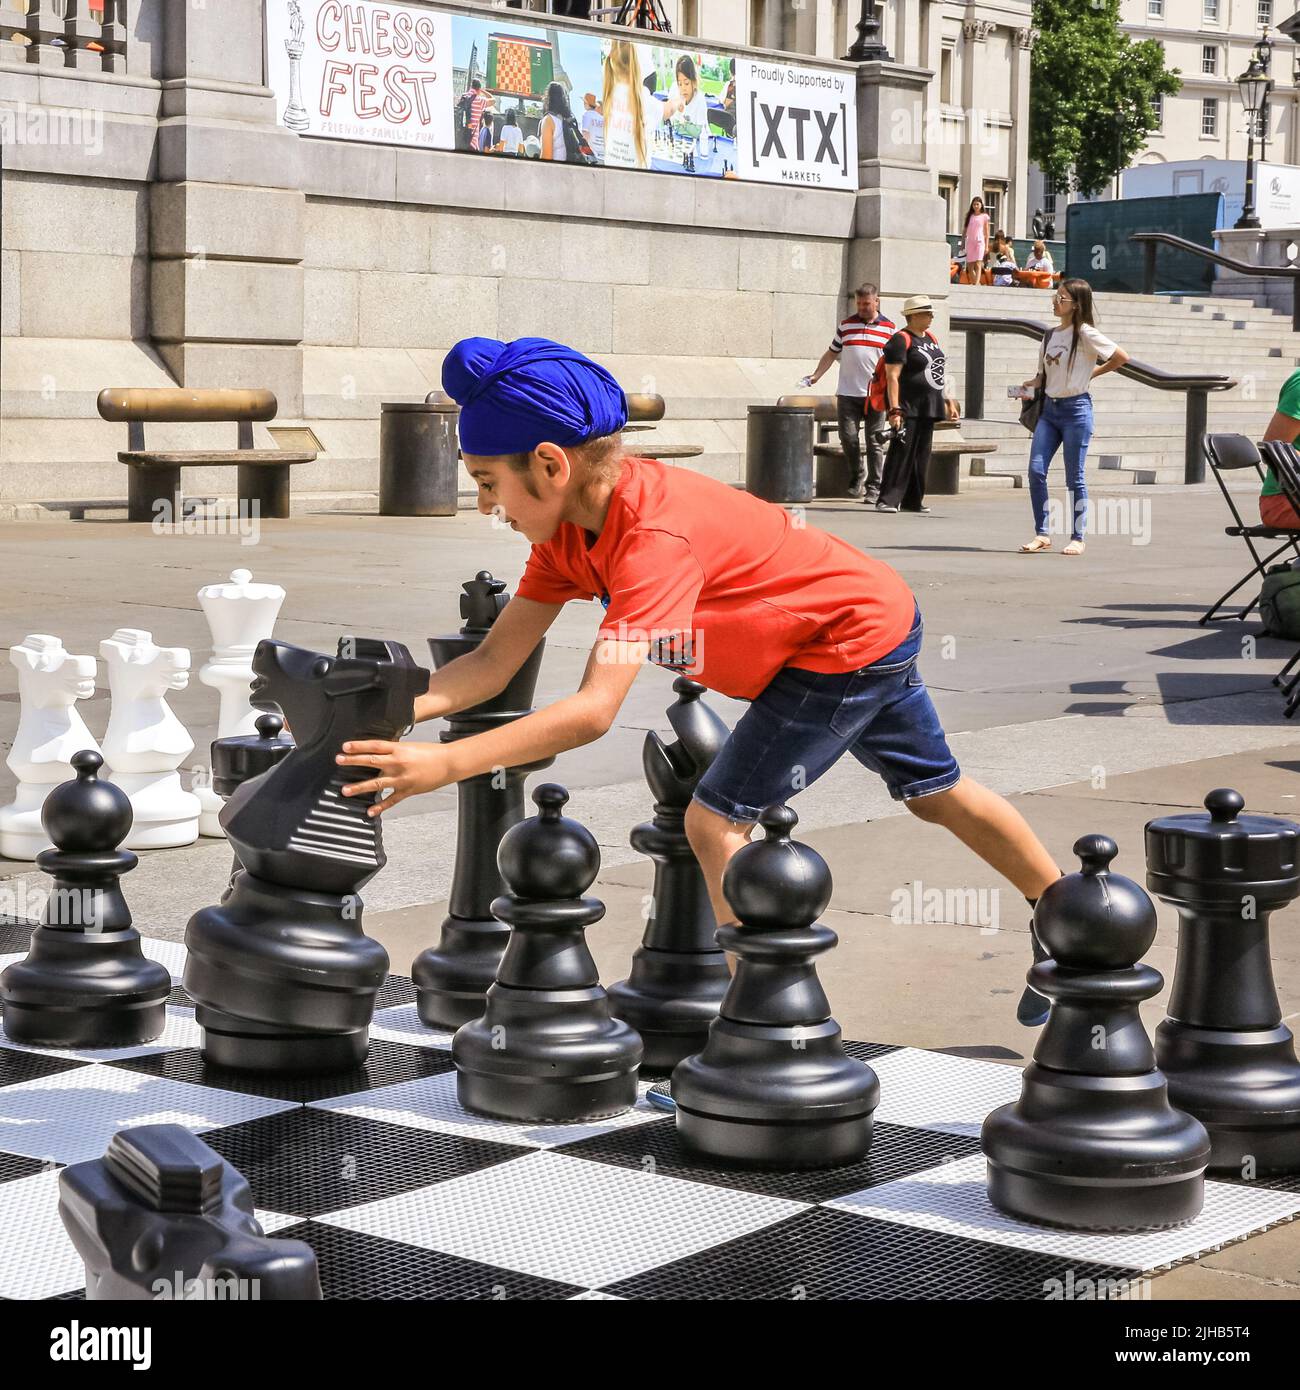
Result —
<instances>
[{"instance_id":1,"label":"boy's nearer bare arm, hand spread on the black knight","mask_svg":"<svg viewBox=\"0 0 1300 1390\"><path fill-rule=\"evenodd\" d=\"M512 606L517 602L519 599L512 599ZM496 623L499 624L503 617L505 613ZM378 816L419 792L437 791L439 787L480 777L498 767L539 762L590 744L613 723L648 655L649 642L617 642L602 638L591 649L583 684L576 694L501 728L460 738L452 744L393 744L387 739L343 744L343 752L335 759L338 763L374 767L380 774L368 781L345 787L343 795L391 792L370 808L368 815Z\"/></svg>"}]
</instances>

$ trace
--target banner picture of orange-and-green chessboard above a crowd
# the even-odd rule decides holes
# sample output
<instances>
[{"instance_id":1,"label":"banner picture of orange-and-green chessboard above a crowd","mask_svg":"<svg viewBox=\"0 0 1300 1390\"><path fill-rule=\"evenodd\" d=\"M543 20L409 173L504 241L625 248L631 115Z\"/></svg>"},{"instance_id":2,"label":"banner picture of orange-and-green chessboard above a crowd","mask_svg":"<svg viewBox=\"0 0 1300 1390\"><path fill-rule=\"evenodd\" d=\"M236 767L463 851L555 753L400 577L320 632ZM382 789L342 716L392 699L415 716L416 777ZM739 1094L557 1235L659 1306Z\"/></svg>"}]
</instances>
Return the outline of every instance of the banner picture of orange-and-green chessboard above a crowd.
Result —
<instances>
[{"instance_id":1,"label":"banner picture of orange-and-green chessboard above a crowd","mask_svg":"<svg viewBox=\"0 0 1300 1390\"><path fill-rule=\"evenodd\" d=\"M584 33L452 18L455 147L566 164L599 164L591 113L601 43Z\"/></svg>"}]
</instances>

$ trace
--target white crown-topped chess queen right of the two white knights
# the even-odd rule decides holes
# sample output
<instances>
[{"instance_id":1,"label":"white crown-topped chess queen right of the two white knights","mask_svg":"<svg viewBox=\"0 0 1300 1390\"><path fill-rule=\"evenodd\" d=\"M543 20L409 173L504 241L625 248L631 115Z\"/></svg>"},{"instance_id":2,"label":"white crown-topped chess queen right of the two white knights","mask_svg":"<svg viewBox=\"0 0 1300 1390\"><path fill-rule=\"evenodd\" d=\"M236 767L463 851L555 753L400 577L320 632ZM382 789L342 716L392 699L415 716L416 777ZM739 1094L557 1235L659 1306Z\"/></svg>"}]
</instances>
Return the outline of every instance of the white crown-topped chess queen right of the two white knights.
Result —
<instances>
[{"instance_id":1,"label":"white crown-topped chess queen right of the two white knights","mask_svg":"<svg viewBox=\"0 0 1300 1390\"><path fill-rule=\"evenodd\" d=\"M253 652L271 635L285 591L278 584L253 584L247 570L235 570L228 584L206 584L199 605L213 634L213 655L199 671L199 680L221 692L217 738L254 734L257 710L249 703L253 682ZM202 812L199 834L222 837L217 817L222 799L210 780L195 788Z\"/></svg>"}]
</instances>

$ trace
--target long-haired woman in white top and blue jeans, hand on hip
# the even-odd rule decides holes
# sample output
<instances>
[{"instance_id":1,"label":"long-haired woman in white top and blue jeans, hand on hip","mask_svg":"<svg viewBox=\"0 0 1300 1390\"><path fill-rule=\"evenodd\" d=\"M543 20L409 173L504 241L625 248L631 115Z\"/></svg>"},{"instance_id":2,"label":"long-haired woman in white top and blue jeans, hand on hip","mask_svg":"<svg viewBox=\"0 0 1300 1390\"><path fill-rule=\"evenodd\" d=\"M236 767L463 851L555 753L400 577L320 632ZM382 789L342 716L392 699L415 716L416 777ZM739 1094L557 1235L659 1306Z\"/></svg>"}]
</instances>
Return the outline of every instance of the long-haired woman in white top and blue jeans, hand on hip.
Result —
<instances>
[{"instance_id":1,"label":"long-haired woman in white top and blue jeans, hand on hip","mask_svg":"<svg viewBox=\"0 0 1300 1390\"><path fill-rule=\"evenodd\" d=\"M1073 520L1065 555L1083 555L1087 527L1087 484L1083 466L1093 438L1094 377L1122 367L1129 354L1097 332L1093 325L1093 286L1086 279L1068 279L1053 295L1057 327L1039 349L1039 373L1025 389L1043 386L1043 413L1029 446L1029 500L1033 506L1034 538L1021 546L1026 555L1051 549L1047 521L1047 468L1057 449L1065 450L1065 485Z\"/></svg>"}]
</instances>

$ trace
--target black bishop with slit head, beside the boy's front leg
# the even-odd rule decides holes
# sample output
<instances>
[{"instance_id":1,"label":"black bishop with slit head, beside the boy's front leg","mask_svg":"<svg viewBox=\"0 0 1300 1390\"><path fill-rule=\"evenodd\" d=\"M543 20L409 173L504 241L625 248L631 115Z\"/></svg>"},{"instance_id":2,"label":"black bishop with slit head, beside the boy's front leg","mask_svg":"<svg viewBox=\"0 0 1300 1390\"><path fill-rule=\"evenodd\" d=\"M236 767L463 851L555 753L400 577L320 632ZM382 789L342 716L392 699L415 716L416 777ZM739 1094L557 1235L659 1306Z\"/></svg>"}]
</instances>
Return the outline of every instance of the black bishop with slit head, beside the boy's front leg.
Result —
<instances>
[{"instance_id":1,"label":"black bishop with slit head, beside the boy's front leg","mask_svg":"<svg viewBox=\"0 0 1300 1390\"><path fill-rule=\"evenodd\" d=\"M645 1042L642 1072L670 1072L698 1052L731 983L699 862L684 821L691 795L727 739L727 726L699 698L704 687L679 676L667 719L672 744L652 730L641 764L655 798L655 819L631 833L633 849L655 862L645 937L631 973L609 988L615 1017Z\"/></svg>"}]
</instances>

